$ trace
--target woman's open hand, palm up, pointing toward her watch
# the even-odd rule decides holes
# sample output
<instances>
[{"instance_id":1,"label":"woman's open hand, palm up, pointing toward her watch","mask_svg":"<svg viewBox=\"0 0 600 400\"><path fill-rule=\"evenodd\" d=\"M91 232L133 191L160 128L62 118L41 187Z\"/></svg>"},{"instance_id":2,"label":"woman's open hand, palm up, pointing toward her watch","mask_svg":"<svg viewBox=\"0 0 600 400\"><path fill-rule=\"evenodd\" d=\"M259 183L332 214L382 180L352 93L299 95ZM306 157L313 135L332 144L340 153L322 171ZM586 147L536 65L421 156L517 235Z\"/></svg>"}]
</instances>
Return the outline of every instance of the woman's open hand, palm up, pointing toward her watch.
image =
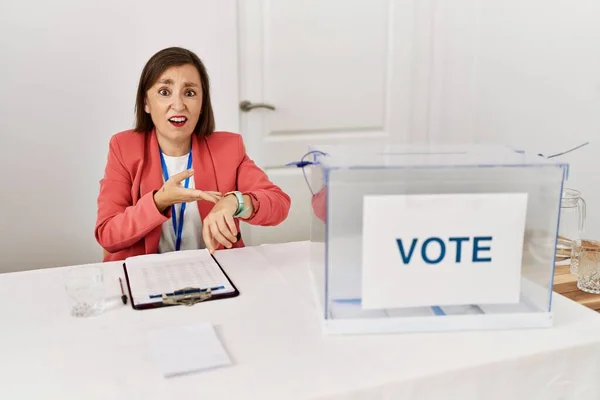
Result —
<instances>
[{"instance_id":1,"label":"woman's open hand, palm up, pointing toward her watch","mask_svg":"<svg viewBox=\"0 0 600 400\"><path fill-rule=\"evenodd\" d=\"M205 192L198 189L184 188L182 182L186 178L192 177L193 175L193 169L188 169L173 175L164 183L159 191L154 193L154 203L156 204L158 211L162 213L173 204L189 203L198 200L206 200L216 203L221 199L221 197L223 197L223 195L219 192Z\"/></svg>"}]
</instances>

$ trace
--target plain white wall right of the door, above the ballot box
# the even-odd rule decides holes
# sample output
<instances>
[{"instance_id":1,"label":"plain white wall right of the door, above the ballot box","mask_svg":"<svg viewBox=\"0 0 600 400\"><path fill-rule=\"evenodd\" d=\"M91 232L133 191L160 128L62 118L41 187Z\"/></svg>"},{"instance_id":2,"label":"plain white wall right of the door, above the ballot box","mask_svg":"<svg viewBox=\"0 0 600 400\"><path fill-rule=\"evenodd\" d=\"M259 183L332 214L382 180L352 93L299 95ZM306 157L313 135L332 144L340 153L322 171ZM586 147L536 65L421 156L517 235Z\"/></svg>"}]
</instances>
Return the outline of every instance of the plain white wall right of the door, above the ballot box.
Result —
<instances>
[{"instance_id":1,"label":"plain white wall right of the door, above the ballot box","mask_svg":"<svg viewBox=\"0 0 600 400\"><path fill-rule=\"evenodd\" d=\"M434 142L493 141L561 157L600 239L600 2L425 0Z\"/></svg>"}]
</instances>

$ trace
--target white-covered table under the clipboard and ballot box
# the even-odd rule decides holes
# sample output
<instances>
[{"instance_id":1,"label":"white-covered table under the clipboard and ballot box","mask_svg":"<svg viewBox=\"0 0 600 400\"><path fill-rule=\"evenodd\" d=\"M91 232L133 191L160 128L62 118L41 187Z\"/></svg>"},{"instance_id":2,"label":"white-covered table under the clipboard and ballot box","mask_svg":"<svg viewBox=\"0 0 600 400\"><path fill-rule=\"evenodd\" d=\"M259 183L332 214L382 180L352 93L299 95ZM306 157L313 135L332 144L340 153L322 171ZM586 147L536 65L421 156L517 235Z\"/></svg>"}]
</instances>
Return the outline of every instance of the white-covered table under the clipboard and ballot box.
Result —
<instances>
[{"instance_id":1,"label":"white-covered table under the clipboard and ballot box","mask_svg":"<svg viewBox=\"0 0 600 400\"><path fill-rule=\"evenodd\" d=\"M600 314L555 296L551 329L322 336L307 243L218 258L241 295L134 311L120 263L112 308L68 315L64 268L0 275L1 399L598 399ZM210 321L234 365L162 377L146 333Z\"/></svg>"}]
</instances>

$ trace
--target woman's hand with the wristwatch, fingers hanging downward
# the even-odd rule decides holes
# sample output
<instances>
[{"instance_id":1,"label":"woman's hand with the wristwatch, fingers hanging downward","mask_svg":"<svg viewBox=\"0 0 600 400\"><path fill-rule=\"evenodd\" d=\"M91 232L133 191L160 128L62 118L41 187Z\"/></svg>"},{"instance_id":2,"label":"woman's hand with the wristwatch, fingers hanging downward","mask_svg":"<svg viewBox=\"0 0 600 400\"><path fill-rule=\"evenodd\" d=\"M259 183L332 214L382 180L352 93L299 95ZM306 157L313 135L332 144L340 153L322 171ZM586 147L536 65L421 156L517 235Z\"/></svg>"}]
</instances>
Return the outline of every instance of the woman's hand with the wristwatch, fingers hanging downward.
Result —
<instances>
[{"instance_id":1,"label":"woman's hand with the wristwatch, fingers hanging downward","mask_svg":"<svg viewBox=\"0 0 600 400\"><path fill-rule=\"evenodd\" d=\"M237 198L225 196L221 198L204 218L202 223L202 238L211 254L222 244L231 248L237 242L237 228L233 214L237 211Z\"/></svg>"}]
</instances>

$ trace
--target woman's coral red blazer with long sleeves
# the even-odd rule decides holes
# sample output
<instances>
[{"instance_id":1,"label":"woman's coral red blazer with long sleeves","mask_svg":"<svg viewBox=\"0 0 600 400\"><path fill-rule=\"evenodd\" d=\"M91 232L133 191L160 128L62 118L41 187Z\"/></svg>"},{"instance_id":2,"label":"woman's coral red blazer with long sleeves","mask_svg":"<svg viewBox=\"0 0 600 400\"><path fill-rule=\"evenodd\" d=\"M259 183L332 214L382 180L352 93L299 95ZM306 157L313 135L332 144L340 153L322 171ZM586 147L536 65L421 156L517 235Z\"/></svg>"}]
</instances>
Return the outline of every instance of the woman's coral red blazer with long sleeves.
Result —
<instances>
[{"instance_id":1,"label":"woman's coral red blazer with long sleeves","mask_svg":"<svg viewBox=\"0 0 600 400\"><path fill-rule=\"evenodd\" d=\"M161 226L171 218L170 207L161 214L154 204L154 193L163 185L159 151L155 132L128 130L111 138L94 230L106 250L104 261L158 251ZM249 224L274 226L285 220L290 197L248 157L240 135L194 135L192 155L197 189L248 194L254 207L250 218L244 220ZM202 220L213 206L208 201L198 202ZM239 229L237 218L236 225ZM244 242L239 240L233 246L243 247Z\"/></svg>"}]
</instances>

